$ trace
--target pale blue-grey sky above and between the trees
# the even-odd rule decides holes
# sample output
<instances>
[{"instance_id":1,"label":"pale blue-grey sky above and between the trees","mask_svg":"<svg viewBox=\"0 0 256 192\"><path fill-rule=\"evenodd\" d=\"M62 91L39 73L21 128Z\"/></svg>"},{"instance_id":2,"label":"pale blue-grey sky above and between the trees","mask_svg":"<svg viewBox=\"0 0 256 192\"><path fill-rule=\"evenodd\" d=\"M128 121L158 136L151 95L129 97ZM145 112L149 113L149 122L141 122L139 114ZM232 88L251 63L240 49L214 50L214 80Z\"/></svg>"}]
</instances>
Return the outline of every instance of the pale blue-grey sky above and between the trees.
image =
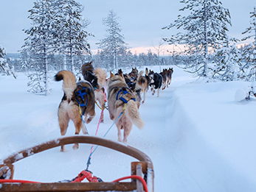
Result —
<instances>
[{"instance_id":1,"label":"pale blue-grey sky above and between the trees","mask_svg":"<svg viewBox=\"0 0 256 192\"><path fill-rule=\"evenodd\" d=\"M22 29L30 29L28 10L32 9L35 0L0 0L0 46L8 53L16 53L24 45L27 37ZM83 17L91 21L86 31L92 32L94 38L89 38L89 43L94 54L97 45L105 38L105 26L103 18L108 16L110 10L114 10L120 17L121 34L125 43L133 53L156 51L153 46L159 46L160 40L173 35L175 30L162 29L168 26L182 12L179 11L184 4L170 0L78 0L84 6ZM249 13L256 5L255 0L223 0L223 7L228 8L231 14L232 26L229 26L228 34L231 37L241 39L241 33L249 27ZM165 49L168 49L165 44ZM166 52L162 54L167 54Z\"/></svg>"}]
</instances>

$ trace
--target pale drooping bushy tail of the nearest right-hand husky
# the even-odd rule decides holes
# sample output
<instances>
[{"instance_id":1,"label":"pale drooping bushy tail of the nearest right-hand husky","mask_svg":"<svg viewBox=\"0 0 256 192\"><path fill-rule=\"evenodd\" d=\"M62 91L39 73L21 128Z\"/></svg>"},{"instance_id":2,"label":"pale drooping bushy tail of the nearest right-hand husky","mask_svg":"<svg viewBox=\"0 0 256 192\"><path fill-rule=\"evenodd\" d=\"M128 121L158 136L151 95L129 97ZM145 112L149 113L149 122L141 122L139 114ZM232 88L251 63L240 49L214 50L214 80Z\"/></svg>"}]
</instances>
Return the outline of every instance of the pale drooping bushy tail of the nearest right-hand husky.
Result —
<instances>
[{"instance_id":1,"label":"pale drooping bushy tail of the nearest right-hand husky","mask_svg":"<svg viewBox=\"0 0 256 192\"><path fill-rule=\"evenodd\" d=\"M127 107L125 110L125 115L130 118L131 122L138 127L139 129L142 129L144 127L144 122L142 121L142 118L140 117L139 114L139 109L137 107L136 102L133 100L128 101Z\"/></svg>"}]
</instances>

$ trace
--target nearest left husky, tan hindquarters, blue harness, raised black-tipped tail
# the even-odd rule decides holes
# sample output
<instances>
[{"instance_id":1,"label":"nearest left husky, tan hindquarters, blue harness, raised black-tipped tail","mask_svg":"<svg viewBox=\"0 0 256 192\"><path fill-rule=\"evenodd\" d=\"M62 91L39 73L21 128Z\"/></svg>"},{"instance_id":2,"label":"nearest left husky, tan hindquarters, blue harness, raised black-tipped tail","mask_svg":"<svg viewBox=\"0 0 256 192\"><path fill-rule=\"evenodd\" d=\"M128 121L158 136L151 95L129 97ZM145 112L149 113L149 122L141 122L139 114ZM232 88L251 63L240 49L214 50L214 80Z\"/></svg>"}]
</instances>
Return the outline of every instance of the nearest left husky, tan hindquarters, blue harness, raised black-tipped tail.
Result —
<instances>
[{"instance_id":1,"label":"nearest left husky, tan hindquarters, blue harness, raised black-tipped tail","mask_svg":"<svg viewBox=\"0 0 256 192\"><path fill-rule=\"evenodd\" d=\"M88 81L76 82L75 75L71 71L59 71L55 75L55 81L61 80L63 80L64 96L58 107L60 134L66 135L70 119L75 124L76 135L81 129L83 134L88 134L82 118L84 115L85 123L89 124L95 116L94 89ZM75 143L73 149L78 149L78 147L78 143ZM61 146L60 152L66 152L65 146Z\"/></svg>"}]
</instances>

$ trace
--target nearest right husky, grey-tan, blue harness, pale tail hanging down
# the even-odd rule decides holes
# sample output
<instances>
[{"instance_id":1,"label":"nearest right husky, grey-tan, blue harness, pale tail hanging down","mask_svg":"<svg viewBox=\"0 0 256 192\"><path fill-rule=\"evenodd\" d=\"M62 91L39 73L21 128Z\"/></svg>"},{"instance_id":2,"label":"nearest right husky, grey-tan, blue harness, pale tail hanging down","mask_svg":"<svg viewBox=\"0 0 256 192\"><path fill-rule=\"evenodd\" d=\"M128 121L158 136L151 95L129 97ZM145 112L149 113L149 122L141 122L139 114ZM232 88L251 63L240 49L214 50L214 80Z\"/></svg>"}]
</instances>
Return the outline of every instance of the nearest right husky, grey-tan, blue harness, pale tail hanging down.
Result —
<instances>
[{"instance_id":1,"label":"nearest right husky, grey-tan, blue harness, pale tail hanging down","mask_svg":"<svg viewBox=\"0 0 256 192\"><path fill-rule=\"evenodd\" d=\"M118 141L127 143L128 135L131 132L133 124L142 129L144 122L139 114L139 109L135 102L134 93L128 88L122 72L112 74L107 82L108 90L108 113L111 120L116 121ZM120 114L122 115L120 116ZM120 116L120 118L119 118ZM117 119L119 118L119 119ZM123 132L123 140L121 135Z\"/></svg>"}]
</instances>

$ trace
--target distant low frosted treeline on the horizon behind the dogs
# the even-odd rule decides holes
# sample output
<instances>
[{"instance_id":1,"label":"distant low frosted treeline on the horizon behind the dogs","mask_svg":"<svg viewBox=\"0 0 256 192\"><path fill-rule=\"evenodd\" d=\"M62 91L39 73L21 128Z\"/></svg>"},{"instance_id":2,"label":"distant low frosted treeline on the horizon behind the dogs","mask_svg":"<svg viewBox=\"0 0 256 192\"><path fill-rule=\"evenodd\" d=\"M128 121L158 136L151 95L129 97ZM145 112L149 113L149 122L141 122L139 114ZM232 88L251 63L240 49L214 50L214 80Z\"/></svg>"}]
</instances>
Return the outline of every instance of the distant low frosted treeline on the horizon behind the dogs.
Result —
<instances>
[{"instance_id":1,"label":"distant low frosted treeline on the horizon behind the dogs","mask_svg":"<svg viewBox=\"0 0 256 192\"><path fill-rule=\"evenodd\" d=\"M91 58L89 55L75 55L73 58L75 73L79 74L80 68L83 63L86 63L88 60L93 60L94 67L105 68L109 71L109 65L105 63L104 57L101 54L94 54ZM132 54L131 51L128 51L128 54L125 56L120 56L120 68L132 68L132 67L141 67L145 65L173 65L173 58L171 56L160 56L158 57L155 53L152 53L151 50L148 50L148 53ZM24 72L27 73L30 71L28 65L24 65L24 61L27 63L30 62L30 59L23 54L7 54L5 57L6 63L13 66L15 72ZM63 60L64 57L61 54L50 54L48 57L49 62L49 71L60 71L63 69ZM121 62L122 61L122 62ZM66 60L66 63L70 63L70 60ZM66 70L71 71L70 65L66 66Z\"/></svg>"}]
</instances>

